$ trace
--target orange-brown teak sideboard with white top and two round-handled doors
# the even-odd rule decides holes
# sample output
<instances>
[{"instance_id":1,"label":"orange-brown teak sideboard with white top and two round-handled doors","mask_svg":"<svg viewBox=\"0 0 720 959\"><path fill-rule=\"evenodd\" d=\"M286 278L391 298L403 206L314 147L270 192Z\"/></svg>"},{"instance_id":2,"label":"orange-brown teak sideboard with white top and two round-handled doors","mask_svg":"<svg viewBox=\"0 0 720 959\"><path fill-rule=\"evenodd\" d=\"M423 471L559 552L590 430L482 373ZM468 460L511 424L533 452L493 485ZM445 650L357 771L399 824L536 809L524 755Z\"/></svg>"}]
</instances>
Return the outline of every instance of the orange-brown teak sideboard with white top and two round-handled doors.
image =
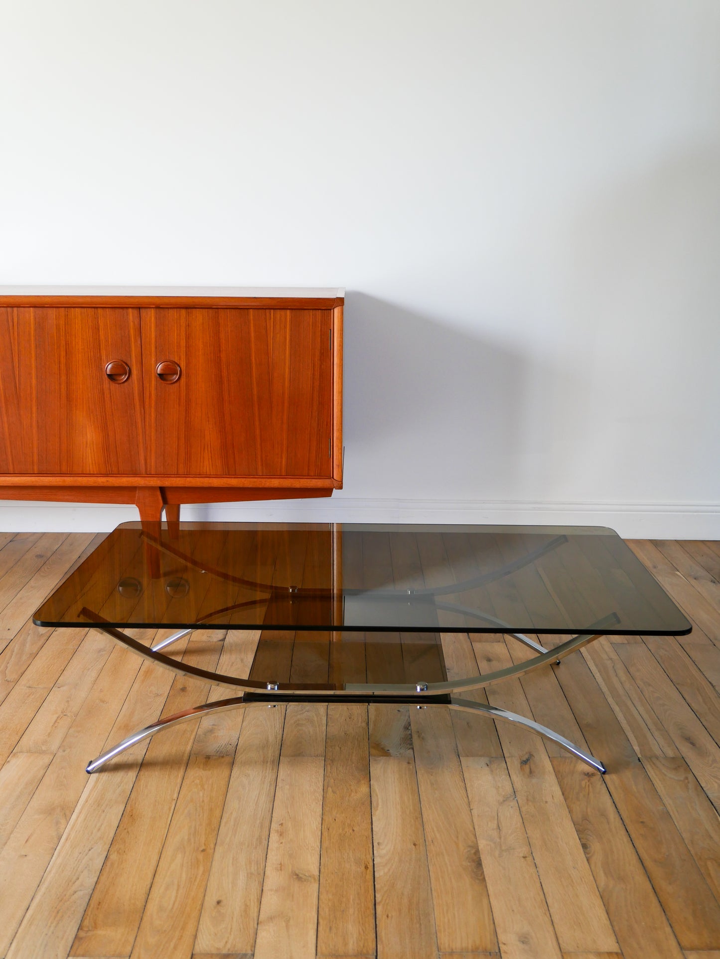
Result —
<instances>
[{"instance_id":1,"label":"orange-brown teak sideboard with white top and two round-handled doors","mask_svg":"<svg viewBox=\"0 0 720 959\"><path fill-rule=\"evenodd\" d=\"M0 499L180 503L342 486L341 290L0 288Z\"/></svg>"}]
</instances>

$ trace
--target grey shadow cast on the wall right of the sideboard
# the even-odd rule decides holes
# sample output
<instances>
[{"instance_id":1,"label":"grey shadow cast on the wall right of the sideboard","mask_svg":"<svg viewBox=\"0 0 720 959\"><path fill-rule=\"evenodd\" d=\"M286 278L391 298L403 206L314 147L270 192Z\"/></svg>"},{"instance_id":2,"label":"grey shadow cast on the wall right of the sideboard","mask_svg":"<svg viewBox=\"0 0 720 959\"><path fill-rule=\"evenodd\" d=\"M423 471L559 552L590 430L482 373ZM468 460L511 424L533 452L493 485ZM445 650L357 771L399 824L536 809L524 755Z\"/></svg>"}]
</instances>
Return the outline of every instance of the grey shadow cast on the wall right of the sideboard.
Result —
<instances>
[{"instance_id":1,"label":"grey shadow cast on the wall right of the sideboard","mask_svg":"<svg viewBox=\"0 0 720 959\"><path fill-rule=\"evenodd\" d=\"M546 368L361 292L346 294L344 356L347 495L527 495L548 429Z\"/></svg>"}]
</instances>

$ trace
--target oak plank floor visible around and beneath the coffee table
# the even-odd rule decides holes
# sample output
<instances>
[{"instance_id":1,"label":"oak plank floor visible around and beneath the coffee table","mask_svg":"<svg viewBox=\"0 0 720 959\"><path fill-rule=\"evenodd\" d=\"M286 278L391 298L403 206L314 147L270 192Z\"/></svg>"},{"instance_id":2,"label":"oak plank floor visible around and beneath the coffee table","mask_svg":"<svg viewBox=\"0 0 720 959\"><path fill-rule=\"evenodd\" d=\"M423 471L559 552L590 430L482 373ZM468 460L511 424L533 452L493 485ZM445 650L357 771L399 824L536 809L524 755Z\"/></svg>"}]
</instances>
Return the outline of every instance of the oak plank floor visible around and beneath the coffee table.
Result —
<instances>
[{"instance_id":1,"label":"oak plank floor visible around and beneath the coffee table","mask_svg":"<svg viewBox=\"0 0 720 959\"><path fill-rule=\"evenodd\" d=\"M689 637L603 639L488 691L604 777L507 724L357 705L208 716L88 777L225 694L32 625L97 541L0 534L0 956L720 959L720 544L631 544ZM443 645L454 675L528 652ZM210 632L183 652L232 655Z\"/></svg>"}]
</instances>

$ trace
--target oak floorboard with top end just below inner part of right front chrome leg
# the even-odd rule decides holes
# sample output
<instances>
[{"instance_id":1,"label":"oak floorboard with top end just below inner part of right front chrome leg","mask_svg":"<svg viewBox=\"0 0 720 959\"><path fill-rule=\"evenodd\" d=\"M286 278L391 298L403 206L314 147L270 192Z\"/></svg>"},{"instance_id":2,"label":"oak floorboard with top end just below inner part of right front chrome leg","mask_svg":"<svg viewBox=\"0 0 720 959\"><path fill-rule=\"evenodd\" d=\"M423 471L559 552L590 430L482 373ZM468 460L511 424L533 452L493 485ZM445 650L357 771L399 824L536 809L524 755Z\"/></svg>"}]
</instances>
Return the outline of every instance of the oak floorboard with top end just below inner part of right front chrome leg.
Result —
<instances>
[{"instance_id":1,"label":"oak floorboard with top end just below inner part of right front chrome leg","mask_svg":"<svg viewBox=\"0 0 720 959\"><path fill-rule=\"evenodd\" d=\"M559 957L505 760L465 757L462 769L503 959Z\"/></svg>"}]
</instances>

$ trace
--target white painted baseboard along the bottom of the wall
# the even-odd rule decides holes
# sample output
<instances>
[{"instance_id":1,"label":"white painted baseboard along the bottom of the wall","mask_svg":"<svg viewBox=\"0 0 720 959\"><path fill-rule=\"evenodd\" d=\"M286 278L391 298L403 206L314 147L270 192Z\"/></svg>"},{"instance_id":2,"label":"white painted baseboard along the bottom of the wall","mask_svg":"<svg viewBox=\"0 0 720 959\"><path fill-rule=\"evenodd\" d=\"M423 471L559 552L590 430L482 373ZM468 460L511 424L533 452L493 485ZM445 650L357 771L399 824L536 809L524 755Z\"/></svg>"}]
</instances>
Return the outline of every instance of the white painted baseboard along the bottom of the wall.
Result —
<instances>
[{"instance_id":1,"label":"white painted baseboard along the bottom of the wall","mask_svg":"<svg viewBox=\"0 0 720 959\"><path fill-rule=\"evenodd\" d=\"M136 520L134 506L2 503L2 531L100 532ZM530 503L480 500L323 500L182 507L185 520L317 523L493 523L610 526L626 539L720 540L720 503Z\"/></svg>"}]
</instances>

